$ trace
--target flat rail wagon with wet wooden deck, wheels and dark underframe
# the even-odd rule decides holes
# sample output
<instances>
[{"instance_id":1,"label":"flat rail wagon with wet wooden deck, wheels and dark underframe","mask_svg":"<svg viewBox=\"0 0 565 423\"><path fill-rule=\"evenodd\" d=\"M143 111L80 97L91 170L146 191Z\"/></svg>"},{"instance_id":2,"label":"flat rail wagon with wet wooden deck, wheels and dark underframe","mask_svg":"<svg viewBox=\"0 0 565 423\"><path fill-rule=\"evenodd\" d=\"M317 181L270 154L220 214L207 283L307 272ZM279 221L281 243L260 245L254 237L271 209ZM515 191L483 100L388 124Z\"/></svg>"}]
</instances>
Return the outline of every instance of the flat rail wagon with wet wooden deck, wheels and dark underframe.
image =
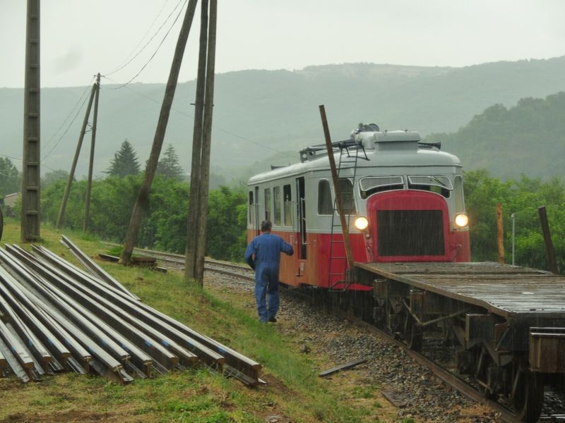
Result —
<instances>
[{"instance_id":1,"label":"flat rail wagon with wet wooden deck, wheels and dark underframe","mask_svg":"<svg viewBox=\"0 0 565 423\"><path fill-rule=\"evenodd\" d=\"M364 319L420 350L424 332L457 345L460 374L537 422L544 385L565 376L565 278L498 263L356 263L372 286ZM363 298L359 296L358 298ZM359 304L357 304L359 307Z\"/></svg>"}]
</instances>

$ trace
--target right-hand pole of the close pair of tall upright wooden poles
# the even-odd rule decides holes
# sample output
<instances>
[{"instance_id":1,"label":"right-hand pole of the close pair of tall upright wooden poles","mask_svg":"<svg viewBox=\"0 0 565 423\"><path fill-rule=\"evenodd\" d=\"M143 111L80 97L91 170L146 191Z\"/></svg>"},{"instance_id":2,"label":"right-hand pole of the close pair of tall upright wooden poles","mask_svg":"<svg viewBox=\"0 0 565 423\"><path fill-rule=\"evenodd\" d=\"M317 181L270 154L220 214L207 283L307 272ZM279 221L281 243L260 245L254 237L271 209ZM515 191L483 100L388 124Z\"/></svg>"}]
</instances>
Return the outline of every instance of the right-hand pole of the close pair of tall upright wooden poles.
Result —
<instances>
[{"instance_id":1,"label":"right-hand pole of the close pair of tall upright wooden poles","mask_svg":"<svg viewBox=\"0 0 565 423\"><path fill-rule=\"evenodd\" d=\"M206 226L208 222L208 188L210 185L210 148L212 145L212 114L214 108L214 72L216 54L216 21L218 0L210 0L208 27L208 60L206 62L206 99L204 100L204 128L202 135L202 161L198 219L198 246L196 248L196 281L204 283L204 257L206 255Z\"/></svg>"}]
</instances>

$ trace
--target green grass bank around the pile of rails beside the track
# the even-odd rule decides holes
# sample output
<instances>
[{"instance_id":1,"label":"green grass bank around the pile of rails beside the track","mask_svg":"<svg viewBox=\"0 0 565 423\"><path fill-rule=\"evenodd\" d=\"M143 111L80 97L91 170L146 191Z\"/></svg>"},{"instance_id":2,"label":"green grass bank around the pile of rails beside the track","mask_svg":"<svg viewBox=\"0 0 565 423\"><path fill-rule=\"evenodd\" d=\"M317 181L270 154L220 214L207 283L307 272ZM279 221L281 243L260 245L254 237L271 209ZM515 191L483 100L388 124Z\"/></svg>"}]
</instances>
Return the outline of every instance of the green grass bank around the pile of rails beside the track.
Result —
<instances>
[{"instance_id":1,"label":"green grass bank around the pile of rails beside the track","mask_svg":"<svg viewBox=\"0 0 565 423\"><path fill-rule=\"evenodd\" d=\"M107 247L80 233L64 232L91 257ZM59 244L61 233L42 227L42 245L75 262ZM19 241L19 223L6 222L2 243ZM22 245L29 249L29 245ZM58 374L40 383L0 379L0 422L393 422L377 386L319 379L333 362L299 353L299 341L278 326L259 324L254 307L229 295L185 283L181 272L100 263L143 302L229 345L263 365L266 386L249 388L234 379L189 369L128 386L100 376ZM352 379L355 379L352 376ZM281 417L278 419L275 416ZM379 420L380 419L380 420Z\"/></svg>"}]
</instances>

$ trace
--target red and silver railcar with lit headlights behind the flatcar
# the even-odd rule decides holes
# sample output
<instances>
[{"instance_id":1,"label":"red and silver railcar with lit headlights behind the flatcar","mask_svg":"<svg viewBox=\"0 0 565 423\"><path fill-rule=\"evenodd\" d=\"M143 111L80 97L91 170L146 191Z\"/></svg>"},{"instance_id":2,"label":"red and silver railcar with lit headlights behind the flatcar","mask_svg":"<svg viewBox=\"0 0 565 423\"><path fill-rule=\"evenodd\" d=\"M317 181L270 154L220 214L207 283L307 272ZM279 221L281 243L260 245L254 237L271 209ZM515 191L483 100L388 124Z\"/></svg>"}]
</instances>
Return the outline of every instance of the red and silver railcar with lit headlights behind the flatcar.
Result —
<instances>
[{"instance_id":1,"label":"red and silver railcar with lit headlights behind the flatcar","mask_svg":"<svg viewBox=\"0 0 565 423\"><path fill-rule=\"evenodd\" d=\"M407 130L359 125L334 143L339 188L355 262L469 262L463 174L453 154ZM263 219L295 247L283 255L289 286L369 290L345 285L345 247L326 147L302 149L297 164L249 179L247 238Z\"/></svg>"}]
</instances>

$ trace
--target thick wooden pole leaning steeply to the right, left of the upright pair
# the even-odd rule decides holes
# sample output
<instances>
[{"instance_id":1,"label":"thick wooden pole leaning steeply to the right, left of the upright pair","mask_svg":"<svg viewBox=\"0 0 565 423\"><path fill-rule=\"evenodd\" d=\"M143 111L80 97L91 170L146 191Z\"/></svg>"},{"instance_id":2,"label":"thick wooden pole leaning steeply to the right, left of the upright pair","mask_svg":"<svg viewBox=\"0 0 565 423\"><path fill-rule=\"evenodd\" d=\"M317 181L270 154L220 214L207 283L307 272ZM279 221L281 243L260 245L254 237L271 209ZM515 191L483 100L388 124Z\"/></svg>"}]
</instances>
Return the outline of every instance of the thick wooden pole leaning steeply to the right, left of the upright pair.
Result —
<instances>
[{"instance_id":1,"label":"thick wooden pole leaning steeply to the right, left of the upright pair","mask_svg":"<svg viewBox=\"0 0 565 423\"><path fill-rule=\"evenodd\" d=\"M143 212L147 209L149 200L149 191L155 171L157 170L157 162L161 153L163 140L165 139L165 130L167 130L167 122L169 121L169 113L171 111L172 100L174 98L174 90L177 88L177 81L179 79L179 71L182 64L182 56L184 55L184 48L186 47L186 40L189 37L192 19L194 18L194 11L196 10L196 0L190 0L189 5L186 7L184 14L184 21L179 32L179 39L177 40L177 47L174 50L174 57L172 59L171 71L169 72L169 80L167 80L167 87L165 88L165 97L163 98L161 111L159 114L159 121L157 122L157 129L155 130L155 137L153 138L153 147L147 161L145 168L145 176L143 183L139 190L136 204L133 207L131 219L129 221L126 239L124 240L124 247L121 252L121 262L129 264L131 260L131 253L133 252L133 245L136 243L139 227L141 226L141 219Z\"/></svg>"}]
</instances>

